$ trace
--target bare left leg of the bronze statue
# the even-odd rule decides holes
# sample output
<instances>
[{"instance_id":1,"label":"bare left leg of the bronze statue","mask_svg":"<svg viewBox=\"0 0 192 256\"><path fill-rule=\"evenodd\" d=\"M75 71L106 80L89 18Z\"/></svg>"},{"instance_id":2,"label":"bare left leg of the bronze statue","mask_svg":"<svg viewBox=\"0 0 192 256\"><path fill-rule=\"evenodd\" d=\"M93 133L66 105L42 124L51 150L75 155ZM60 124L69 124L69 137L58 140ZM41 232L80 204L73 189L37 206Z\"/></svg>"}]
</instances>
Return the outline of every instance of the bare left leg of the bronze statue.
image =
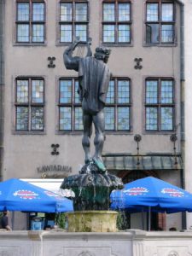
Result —
<instances>
[{"instance_id":1,"label":"bare left leg of the bronze statue","mask_svg":"<svg viewBox=\"0 0 192 256\"><path fill-rule=\"evenodd\" d=\"M84 148L85 159L84 163L88 164L90 161L90 136L92 133L92 116L88 113L83 113L84 123L84 136L82 139L82 145Z\"/></svg>"}]
</instances>

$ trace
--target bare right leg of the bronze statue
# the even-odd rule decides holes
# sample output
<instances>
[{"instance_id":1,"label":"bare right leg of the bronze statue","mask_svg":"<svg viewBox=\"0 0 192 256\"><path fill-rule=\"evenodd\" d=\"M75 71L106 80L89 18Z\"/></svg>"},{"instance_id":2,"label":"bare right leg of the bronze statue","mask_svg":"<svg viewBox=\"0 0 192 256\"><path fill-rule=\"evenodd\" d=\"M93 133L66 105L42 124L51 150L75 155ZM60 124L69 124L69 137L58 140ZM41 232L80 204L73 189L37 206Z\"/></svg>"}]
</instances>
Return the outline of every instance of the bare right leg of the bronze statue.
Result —
<instances>
[{"instance_id":1,"label":"bare right leg of the bronze statue","mask_svg":"<svg viewBox=\"0 0 192 256\"><path fill-rule=\"evenodd\" d=\"M96 153L94 157L97 160L102 161L102 147L104 143L104 131L105 131L105 117L103 109L93 116L93 123L95 125L96 137L94 139L94 144L96 148Z\"/></svg>"}]
</instances>

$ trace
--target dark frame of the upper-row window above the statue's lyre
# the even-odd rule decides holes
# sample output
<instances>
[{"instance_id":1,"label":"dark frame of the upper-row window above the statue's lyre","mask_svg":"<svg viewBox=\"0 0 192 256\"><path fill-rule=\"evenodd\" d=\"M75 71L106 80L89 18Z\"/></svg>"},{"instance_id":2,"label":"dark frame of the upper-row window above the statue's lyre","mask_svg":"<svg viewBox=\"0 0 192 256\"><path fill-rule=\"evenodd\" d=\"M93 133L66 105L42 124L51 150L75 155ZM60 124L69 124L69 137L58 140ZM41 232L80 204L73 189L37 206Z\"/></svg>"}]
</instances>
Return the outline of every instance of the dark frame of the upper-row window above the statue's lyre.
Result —
<instances>
[{"instance_id":1,"label":"dark frame of the upper-row window above the statue's lyre","mask_svg":"<svg viewBox=\"0 0 192 256\"><path fill-rule=\"evenodd\" d=\"M71 3L72 4L72 20L61 20L61 3ZM76 3L86 3L87 5L87 20L75 20L75 4ZM75 39L75 26L76 25L86 25L86 40L90 37L89 24L90 24L90 3L88 0L59 0L57 3L57 29L56 29L56 45L69 45L72 44ZM71 25L72 26L72 41L71 42L61 42L61 25ZM85 41L84 41L85 43Z\"/></svg>"}]
</instances>

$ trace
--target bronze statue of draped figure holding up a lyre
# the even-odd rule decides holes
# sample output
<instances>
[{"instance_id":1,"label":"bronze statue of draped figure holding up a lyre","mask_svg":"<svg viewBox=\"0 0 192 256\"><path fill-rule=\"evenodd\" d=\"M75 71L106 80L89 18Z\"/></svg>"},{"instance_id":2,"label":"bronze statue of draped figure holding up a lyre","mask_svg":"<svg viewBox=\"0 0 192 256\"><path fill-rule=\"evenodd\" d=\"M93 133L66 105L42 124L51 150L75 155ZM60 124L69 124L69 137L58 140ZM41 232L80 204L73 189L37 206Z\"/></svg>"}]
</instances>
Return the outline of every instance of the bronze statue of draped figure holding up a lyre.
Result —
<instances>
[{"instance_id":1,"label":"bronze statue of draped figure holding up a lyre","mask_svg":"<svg viewBox=\"0 0 192 256\"><path fill-rule=\"evenodd\" d=\"M90 43L87 43L88 51L85 57L73 56L73 52L80 44L80 41L71 44L63 54L64 64L67 69L79 72L79 99L82 102L84 136L82 145L85 153L85 164L94 162L100 171L105 172L106 168L102 163L102 148L104 143L104 107L108 92L108 84L111 72L106 65L111 50L104 47L97 47L93 56L90 50ZM90 136L92 123L95 126L96 137L94 139L95 154L90 155Z\"/></svg>"}]
</instances>

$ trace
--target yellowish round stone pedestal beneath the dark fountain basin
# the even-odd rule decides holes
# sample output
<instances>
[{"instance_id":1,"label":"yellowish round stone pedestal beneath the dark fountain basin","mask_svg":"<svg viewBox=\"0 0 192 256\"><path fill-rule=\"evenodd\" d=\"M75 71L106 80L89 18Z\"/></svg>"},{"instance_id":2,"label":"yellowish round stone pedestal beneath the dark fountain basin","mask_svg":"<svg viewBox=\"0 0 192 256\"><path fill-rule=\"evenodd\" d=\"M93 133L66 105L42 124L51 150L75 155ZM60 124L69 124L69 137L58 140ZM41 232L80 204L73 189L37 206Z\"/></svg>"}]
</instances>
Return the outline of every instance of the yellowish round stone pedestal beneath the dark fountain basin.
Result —
<instances>
[{"instance_id":1,"label":"yellowish round stone pedestal beneath the dark fountain basin","mask_svg":"<svg viewBox=\"0 0 192 256\"><path fill-rule=\"evenodd\" d=\"M78 211L67 213L69 232L116 232L118 212Z\"/></svg>"}]
</instances>

